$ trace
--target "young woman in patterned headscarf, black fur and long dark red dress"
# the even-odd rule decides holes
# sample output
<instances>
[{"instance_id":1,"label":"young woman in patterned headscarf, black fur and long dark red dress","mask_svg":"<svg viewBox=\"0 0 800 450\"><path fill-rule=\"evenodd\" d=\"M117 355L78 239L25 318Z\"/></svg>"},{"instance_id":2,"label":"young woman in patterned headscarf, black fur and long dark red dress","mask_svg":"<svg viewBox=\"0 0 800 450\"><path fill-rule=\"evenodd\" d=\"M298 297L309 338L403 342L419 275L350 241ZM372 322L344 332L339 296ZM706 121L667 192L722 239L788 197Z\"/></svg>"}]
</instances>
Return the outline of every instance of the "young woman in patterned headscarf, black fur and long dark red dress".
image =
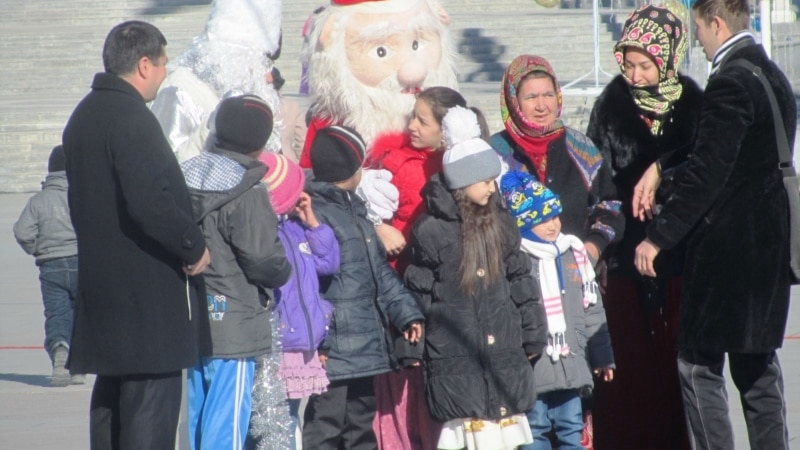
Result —
<instances>
[{"instance_id":1,"label":"young woman in patterned headscarf, black fur and long dark red dress","mask_svg":"<svg viewBox=\"0 0 800 450\"><path fill-rule=\"evenodd\" d=\"M689 448L675 348L683 251L659 254L658 278L641 276L633 255L647 224L631 212L645 169L658 161L666 175L694 140L702 91L678 74L685 32L666 8L634 11L614 47L622 74L597 98L589 120L587 135L611 164L627 219L622 241L606 252L606 316L619 369L614 383L595 390L596 449Z\"/></svg>"}]
</instances>

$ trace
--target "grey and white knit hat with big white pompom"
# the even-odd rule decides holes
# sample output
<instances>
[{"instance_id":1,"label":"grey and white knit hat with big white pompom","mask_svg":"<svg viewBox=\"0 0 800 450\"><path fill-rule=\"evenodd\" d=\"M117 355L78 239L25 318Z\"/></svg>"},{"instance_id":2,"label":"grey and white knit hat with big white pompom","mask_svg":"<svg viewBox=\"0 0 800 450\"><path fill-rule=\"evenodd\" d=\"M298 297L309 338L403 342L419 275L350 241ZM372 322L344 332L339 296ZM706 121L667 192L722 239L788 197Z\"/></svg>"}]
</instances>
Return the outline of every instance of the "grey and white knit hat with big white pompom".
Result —
<instances>
[{"instance_id":1,"label":"grey and white knit hat with big white pompom","mask_svg":"<svg viewBox=\"0 0 800 450\"><path fill-rule=\"evenodd\" d=\"M447 146L442 171L447 187L461 189L500 175L500 157L480 138L478 116L461 106L450 108L442 119Z\"/></svg>"}]
</instances>

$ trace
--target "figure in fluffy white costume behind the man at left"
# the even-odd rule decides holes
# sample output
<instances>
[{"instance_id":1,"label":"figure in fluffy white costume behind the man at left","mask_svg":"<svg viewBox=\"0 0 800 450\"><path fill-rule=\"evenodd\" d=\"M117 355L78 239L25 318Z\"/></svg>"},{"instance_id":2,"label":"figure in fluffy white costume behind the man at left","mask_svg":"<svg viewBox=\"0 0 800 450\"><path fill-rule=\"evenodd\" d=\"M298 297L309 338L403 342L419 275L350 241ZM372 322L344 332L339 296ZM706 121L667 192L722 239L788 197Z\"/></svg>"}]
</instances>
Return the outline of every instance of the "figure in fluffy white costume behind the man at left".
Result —
<instances>
[{"instance_id":1,"label":"figure in fluffy white costume behind the man at left","mask_svg":"<svg viewBox=\"0 0 800 450\"><path fill-rule=\"evenodd\" d=\"M279 97L266 81L280 34L281 0L214 0L205 29L170 64L150 107L179 162L205 148L219 102L241 94L270 106L275 120L267 150L280 151Z\"/></svg>"}]
</instances>

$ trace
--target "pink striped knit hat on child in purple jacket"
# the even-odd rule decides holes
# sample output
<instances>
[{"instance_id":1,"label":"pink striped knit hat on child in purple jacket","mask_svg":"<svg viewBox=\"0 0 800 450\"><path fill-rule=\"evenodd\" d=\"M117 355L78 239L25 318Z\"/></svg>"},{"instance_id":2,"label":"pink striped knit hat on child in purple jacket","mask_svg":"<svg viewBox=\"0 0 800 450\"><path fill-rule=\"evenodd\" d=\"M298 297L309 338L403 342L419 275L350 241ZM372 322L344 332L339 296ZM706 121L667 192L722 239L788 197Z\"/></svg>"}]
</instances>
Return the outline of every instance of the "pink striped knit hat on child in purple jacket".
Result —
<instances>
[{"instance_id":1,"label":"pink striped knit hat on child in purple jacket","mask_svg":"<svg viewBox=\"0 0 800 450\"><path fill-rule=\"evenodd\" d=\"M263 152L258 159L267 166L267 174L261 182L267 185L272 208L278 215L290 213L306 182L303 169L277 153Z\"/></svg>"}]
</instances>

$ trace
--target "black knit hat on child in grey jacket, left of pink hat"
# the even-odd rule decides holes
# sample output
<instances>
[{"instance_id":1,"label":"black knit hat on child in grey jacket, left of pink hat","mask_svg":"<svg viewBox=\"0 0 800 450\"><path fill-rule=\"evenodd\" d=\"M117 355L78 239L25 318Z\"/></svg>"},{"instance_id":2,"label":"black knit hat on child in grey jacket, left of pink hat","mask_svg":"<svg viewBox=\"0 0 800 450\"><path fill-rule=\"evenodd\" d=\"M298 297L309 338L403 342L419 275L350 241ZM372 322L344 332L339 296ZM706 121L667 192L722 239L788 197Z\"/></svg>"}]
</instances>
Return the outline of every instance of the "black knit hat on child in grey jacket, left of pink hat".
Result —
<instances>
[{"instance_id":1,"label":"black knit hat on child in grey jacket, left of pink hat","mask_svg":"<svg viewBox=\"0 0 800 450\"><path fill-rule=\"evenodd\" d=\"M220 148L252 153L263 149L272 134L272 111L255 95L226 98L217 108L214 126Z\"/></svg>"}]
</instances>

